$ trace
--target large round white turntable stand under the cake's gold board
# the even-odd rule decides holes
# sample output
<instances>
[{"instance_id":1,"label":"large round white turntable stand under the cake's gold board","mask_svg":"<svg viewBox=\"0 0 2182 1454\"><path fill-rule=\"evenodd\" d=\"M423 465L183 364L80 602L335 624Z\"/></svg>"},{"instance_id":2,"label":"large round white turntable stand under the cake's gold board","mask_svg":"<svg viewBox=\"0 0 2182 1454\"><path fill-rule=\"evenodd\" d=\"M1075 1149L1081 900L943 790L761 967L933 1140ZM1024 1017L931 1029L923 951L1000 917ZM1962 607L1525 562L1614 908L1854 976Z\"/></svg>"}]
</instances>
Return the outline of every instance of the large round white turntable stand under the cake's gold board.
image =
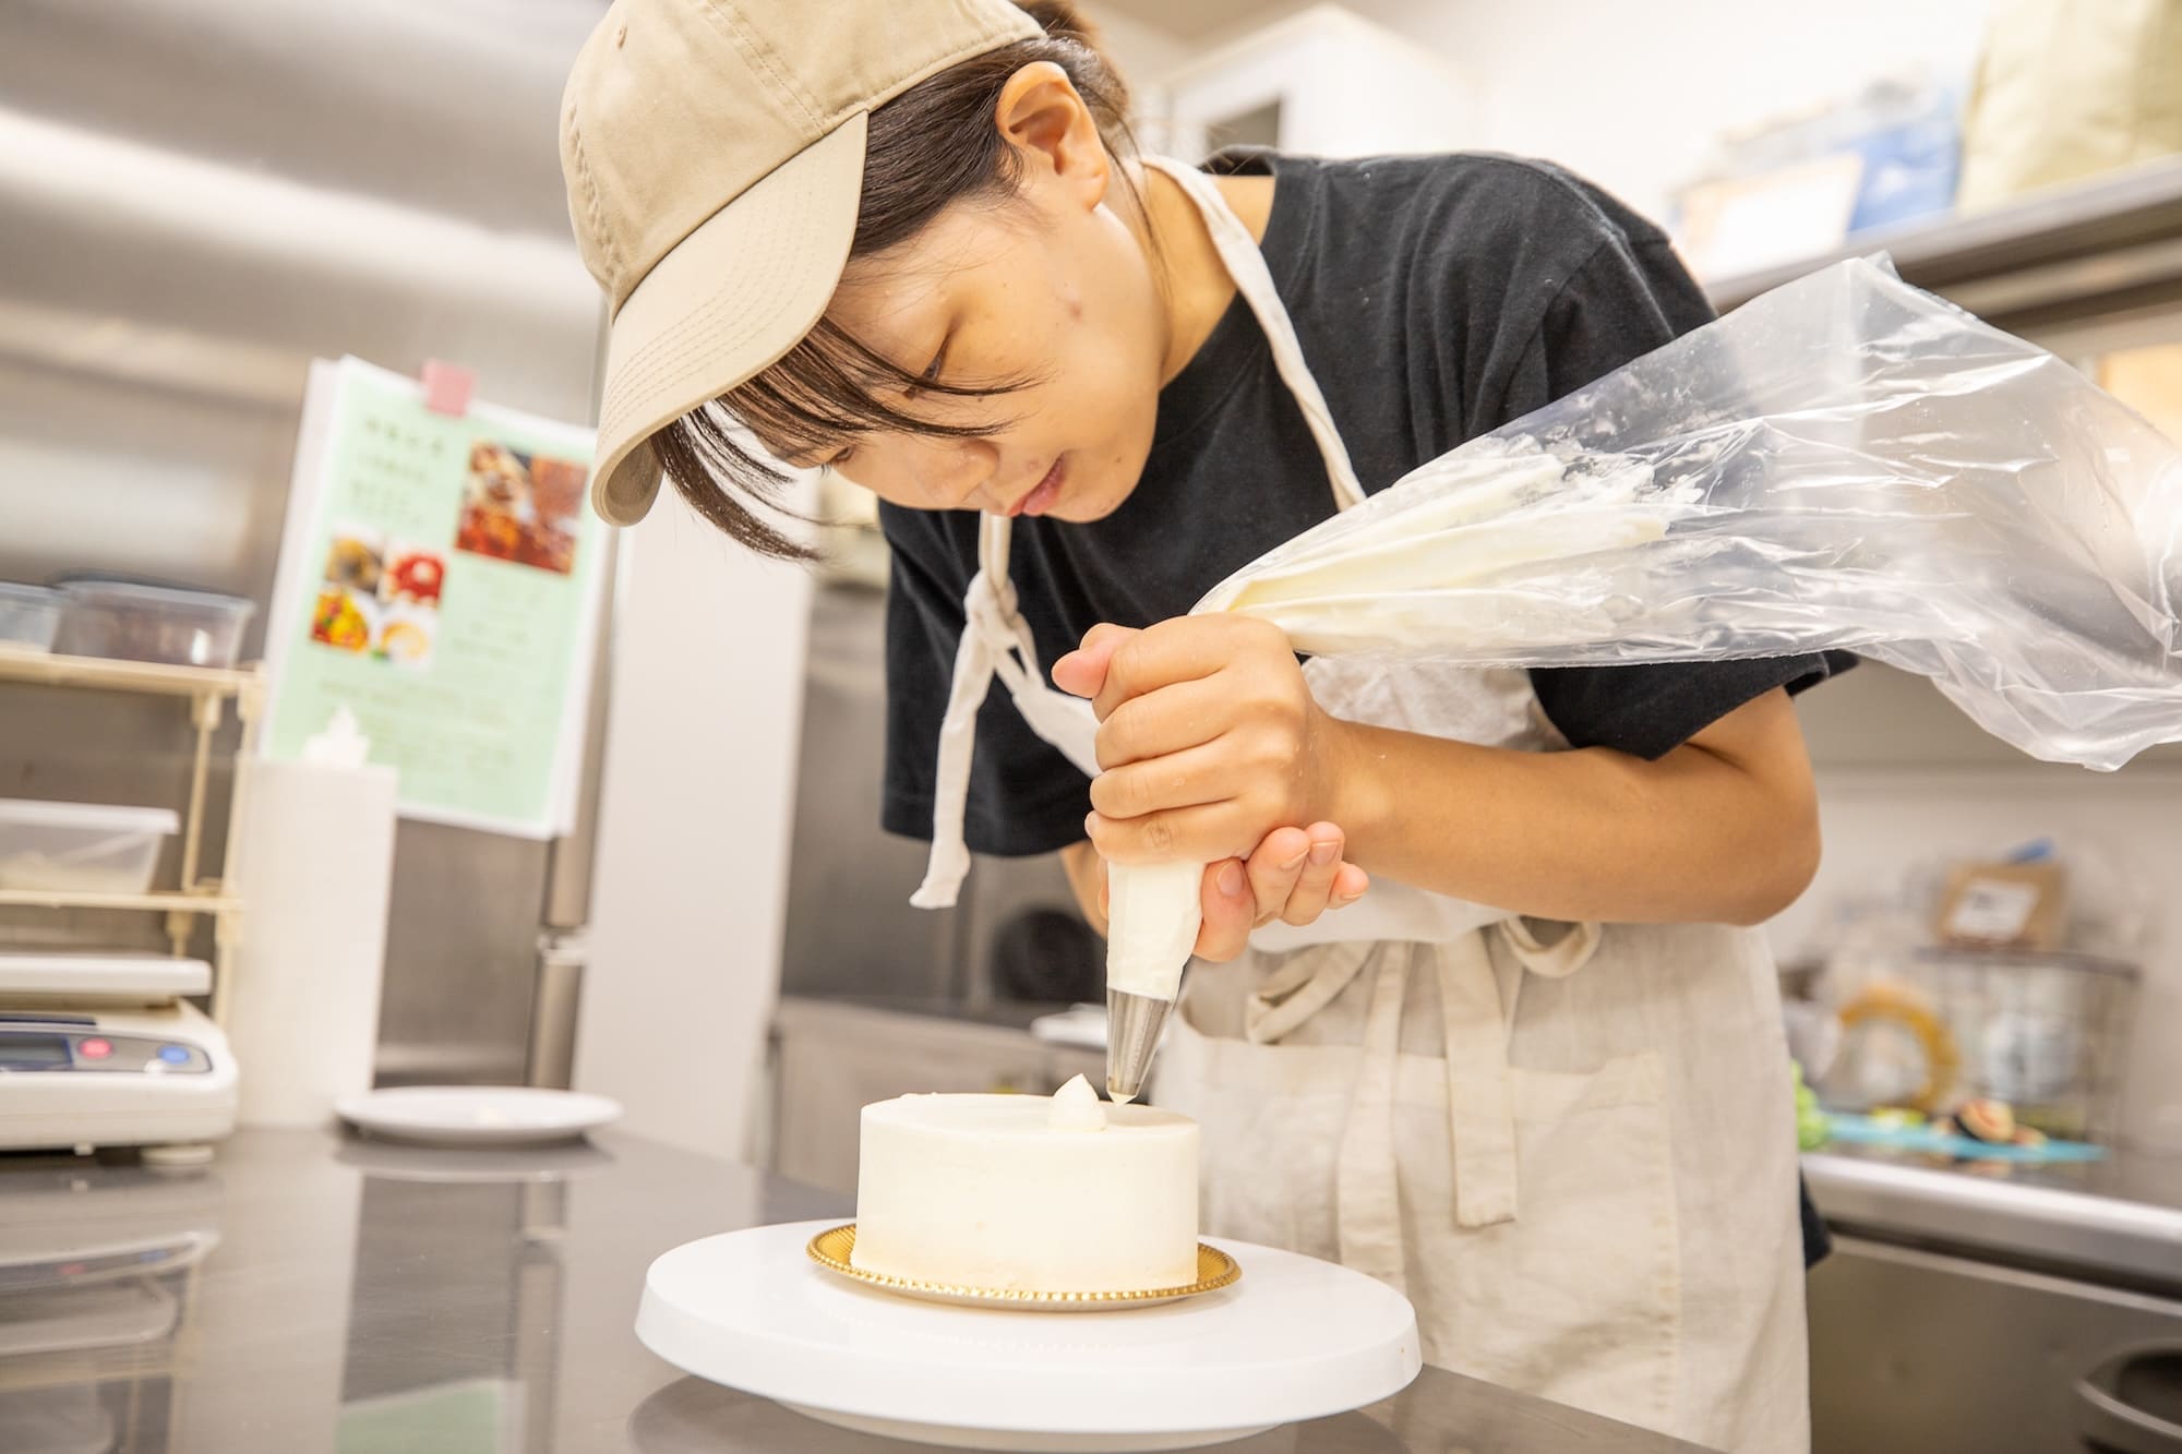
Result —
<instances>
[{"instance_id":1,"label":"large round white turntable stand under the cake's gold board","mask_svg":"<svg viewBox=\"0 0 2182 1454\"><path fill-rule=\"evenodd\" d=\"M834 1277L803 1255L827 1227L676 1247L644 1277L637 1338L814 1419L954 1450L1202 1447L1375 1404L1423 1367L1401 1292L1270 1247L1213 1242L1235 1286L1084 1319Z\"/></svg>"}]
</instances>

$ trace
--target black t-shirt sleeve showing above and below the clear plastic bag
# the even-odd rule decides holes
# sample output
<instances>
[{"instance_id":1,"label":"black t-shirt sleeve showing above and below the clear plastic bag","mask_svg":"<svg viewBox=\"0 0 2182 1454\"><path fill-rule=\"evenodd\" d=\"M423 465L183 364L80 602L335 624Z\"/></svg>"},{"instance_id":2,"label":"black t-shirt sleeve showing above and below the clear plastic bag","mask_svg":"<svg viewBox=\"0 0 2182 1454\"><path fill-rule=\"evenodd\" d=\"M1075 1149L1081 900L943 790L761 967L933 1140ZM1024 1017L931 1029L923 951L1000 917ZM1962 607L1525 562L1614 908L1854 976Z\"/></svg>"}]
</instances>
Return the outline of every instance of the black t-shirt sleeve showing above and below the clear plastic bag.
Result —
<instances>
[{"instance_id":1,"label":"black t-shirt sleeve showing above and below the clear plastic bag","mask_svg":"<svg viewBox=\"0 0 2182 1454\"><path fill-rule=\"evenodd\" d=\"M1473 421L1475 432L1521 419L1713 319L1704 290L1665 236L1636 218L1621 227L1604 203L1595 207L1582 207L1597 236L1595 249L1545 306L1514 362L1495 371L1499 397L1484 402L1488 417ZM1826 653L1571 666L1532 670L1530 679L1545 716L1571 747L1663 758L1774 688L1802 692L1853 664L1846 653Z\"/></svg>"}]
</instances>

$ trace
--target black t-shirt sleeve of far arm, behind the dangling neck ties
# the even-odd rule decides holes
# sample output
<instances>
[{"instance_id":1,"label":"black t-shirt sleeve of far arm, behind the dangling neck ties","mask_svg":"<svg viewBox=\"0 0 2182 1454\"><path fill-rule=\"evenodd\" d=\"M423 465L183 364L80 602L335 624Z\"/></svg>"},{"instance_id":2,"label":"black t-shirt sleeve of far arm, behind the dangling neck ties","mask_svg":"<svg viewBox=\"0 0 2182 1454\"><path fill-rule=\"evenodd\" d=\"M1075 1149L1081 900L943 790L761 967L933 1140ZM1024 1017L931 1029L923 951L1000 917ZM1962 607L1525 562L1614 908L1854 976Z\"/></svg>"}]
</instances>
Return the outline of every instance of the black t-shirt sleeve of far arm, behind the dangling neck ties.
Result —
<instances>
[{"instance_id":1,"label":"black t-shirt sleeve of far arm, behind the dangling neck ties","mask_svg":"<svg viewBox=\"0 0 2182 1454\"><path fill-rule=\"evenodd\" d=\"M962 642L962 594L975 559L967 515L879 506L892 565L886 592L886 792L879 825L932 838L940 723ZM978 854L1052 854L1084 836L1091 784L1067 755L1030 731L1008 690L993 686L978 712L962 836Z\"/></svg>"}]
</instances>

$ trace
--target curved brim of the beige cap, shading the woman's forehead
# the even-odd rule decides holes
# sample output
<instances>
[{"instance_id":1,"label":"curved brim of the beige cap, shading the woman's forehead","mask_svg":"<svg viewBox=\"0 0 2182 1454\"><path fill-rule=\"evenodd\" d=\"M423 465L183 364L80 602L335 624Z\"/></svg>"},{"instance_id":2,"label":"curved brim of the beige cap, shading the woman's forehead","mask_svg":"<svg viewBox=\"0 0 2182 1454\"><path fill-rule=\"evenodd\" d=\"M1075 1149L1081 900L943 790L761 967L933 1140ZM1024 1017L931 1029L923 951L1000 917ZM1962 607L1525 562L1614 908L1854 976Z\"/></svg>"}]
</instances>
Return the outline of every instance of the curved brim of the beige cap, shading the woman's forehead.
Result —
<instances>
[{"instance_id":1,"label":"curved brim of the beige cap, shading the woman's forehead","mask_svg":"<svg viewBox=\"0 0 2182 1454\"><path fill-rule=\"evenodd\" d=\"M648 441L792 349L849 264L864 186L858 111L705 218L613 317L598 406L591 509L644 520L659 496Z\"/></svg>"}]
</instances>

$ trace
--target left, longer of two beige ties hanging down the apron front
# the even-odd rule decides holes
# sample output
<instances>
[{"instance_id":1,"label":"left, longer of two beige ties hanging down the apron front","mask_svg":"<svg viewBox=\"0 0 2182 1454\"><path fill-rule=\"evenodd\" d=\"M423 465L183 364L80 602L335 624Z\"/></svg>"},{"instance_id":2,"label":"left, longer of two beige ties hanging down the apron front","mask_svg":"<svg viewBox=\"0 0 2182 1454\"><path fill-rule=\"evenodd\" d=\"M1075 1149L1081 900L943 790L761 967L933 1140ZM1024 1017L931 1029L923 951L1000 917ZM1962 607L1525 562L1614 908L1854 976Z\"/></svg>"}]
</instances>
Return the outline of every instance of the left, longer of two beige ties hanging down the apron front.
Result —
<instances>
[{"instance_id":1,"label":"left, longer of two beige ties hanging down the apron front","mask_svg":"<svg viewBox=\"0 0 2182 1454\"><path fill-rule=\"evenodd\" d=\"M1359 945L1364 948L1364 945ZM1401 1236L1401 1157L1394 1087L1401 1072L1401 1002L1416 945L1388 943L1364 1013L1364 1057L1335 1161L1333 1209L1342 1266L1407 1290ZM1362 963L1362 956L1357 958ZM1355 978L1351 969L1348 978Z\"/></svg>"}]
</instances>

